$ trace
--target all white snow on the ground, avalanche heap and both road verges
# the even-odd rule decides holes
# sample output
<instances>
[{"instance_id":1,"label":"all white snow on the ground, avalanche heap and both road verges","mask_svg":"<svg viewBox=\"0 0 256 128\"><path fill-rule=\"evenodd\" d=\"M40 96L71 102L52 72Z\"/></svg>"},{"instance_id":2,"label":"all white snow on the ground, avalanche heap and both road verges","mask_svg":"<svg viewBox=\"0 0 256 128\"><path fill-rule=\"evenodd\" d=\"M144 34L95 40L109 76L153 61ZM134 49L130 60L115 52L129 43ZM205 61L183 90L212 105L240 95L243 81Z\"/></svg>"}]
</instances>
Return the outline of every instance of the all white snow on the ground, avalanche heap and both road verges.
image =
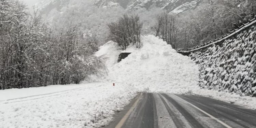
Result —
<instances>
[{"instance_id":1,"label":"all white snow on the ground, avalanche heap and both road verges","mask_svg":"<svg viewBox=\"0 0 256 128\"><path fill-rule=\"evenodd\" d=\"M147 35L142 44L127 51L114 42L101 46L95 55L104 58L109 74L101 83L0 90L0 128L101 127L142 91L201 95L247 108L256 106L256 98L200 89L198 66L161 39ZM131 51L117 63L119 53Z\"/></svg>"}]
</instances>

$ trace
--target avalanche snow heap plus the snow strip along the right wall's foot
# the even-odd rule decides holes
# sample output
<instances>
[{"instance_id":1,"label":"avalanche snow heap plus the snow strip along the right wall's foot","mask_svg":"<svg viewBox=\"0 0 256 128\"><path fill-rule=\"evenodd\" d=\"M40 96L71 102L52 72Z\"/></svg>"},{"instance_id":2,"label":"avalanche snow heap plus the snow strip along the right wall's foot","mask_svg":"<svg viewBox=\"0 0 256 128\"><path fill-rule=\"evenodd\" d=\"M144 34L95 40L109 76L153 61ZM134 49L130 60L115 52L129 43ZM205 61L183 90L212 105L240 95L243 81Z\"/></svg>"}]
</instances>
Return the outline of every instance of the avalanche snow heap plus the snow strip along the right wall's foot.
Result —
<instances>
[{"instance_id":1,"label":"avalanche snow heap plus the snow strip along the right wall's foot","mask_svg":"<svg viewBox=\"0 0 256 128\"><path fill-rule=\"evenodd\" d=\"M118 83L117 86L126 85L127 88L134 88L137 92L188 93L234 102L237 105L255 109L256 99L254 97L241 97L218 90L201 89L198 66L190 57L177 53L163 40L154 35L147 35L141 41L142 48L128 47L126 51L132 51L132 53L119 63L117 63L117 56L120 52L126 51L115 49L116 45L113 43L106 44L106 46L111 45L108 46L111 48L108 49L110 50L108 54L104 55L115 60L108 65L109 76L106 78L108 82ZM104 53L101 50L99 52ZM116 55L113 56L114 54Z\"/></svg>"}]
</instances>

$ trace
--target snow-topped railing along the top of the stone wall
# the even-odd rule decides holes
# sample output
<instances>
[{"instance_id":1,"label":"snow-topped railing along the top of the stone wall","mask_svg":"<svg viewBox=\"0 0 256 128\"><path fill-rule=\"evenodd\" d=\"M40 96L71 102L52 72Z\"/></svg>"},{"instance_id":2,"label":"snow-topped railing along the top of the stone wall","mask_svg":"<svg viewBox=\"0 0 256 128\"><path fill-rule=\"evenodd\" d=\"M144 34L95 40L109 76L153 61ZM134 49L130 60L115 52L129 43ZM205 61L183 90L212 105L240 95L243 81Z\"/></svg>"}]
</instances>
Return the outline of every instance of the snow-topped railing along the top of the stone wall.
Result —
<instances>
[{"instance_id":1,"label":"snow-topped railing along the top of the stone wall","mask_svg":"<svg viewBox=\"0 0 256 128\"><path fill-rule=\"evenodd\" d=\"M250 26L251 26L250 24L253 23L253 22L256 23L256 16L255 16L255 18L251 19L249 22L244 23L243 25L241 25L239 28L233 29L233 30L230 31L229 33L223 35L221 38L214 39L214 40L212 40L212 41L209 41L209 42L207 42L207 43L200 44L200 45L195 46L195 47L192 47L192 48L180 48L180 49L177 49L177 52L184 52L184 53L185 53L185 52L186 52L186 53L188 53L188 52L193 52L193 51L200 50L200 49L204 48L205 46L212 45L212 44L215 44L215 43L217 43L217 42L220 42L220 41L222 41L222 40L224 40L224 39L226 40L226 39L232 37L232 35L238 33L238 32L237 32L238 30L241 31L241 30L243 30L243 29L245 29L245 28L247 28L247 27L250 27ZM255 23L253 23L253 24L255 24ZM253 25L253 24L252 24L252 25ZM247 25L248 25L248 26L247 26ZM240 32L240 31L239 31L239 32Z\"/></svg>"}]
</instances>

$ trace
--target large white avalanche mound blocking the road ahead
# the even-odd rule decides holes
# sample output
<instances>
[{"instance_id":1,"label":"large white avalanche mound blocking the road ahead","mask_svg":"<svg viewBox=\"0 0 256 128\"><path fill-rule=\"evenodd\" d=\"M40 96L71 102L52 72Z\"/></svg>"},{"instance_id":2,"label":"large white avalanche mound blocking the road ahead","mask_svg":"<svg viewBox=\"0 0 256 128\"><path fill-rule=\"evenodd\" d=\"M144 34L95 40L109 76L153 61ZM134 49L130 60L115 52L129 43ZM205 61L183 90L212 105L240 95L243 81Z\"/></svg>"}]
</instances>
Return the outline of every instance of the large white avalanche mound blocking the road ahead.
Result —
<instances>
[{"instance_id":1,"label":"large white avalanche mound blocking the road ahead","mask_svg":"<svg viewBox=\"0 0 256 128\"><path fill-rule=\"evenodd\" d=\"M109 67L110 82L127 83L139 91L187 93L198 86L198 67L187 56L154 35L144 36L143 46Z\"/></svg>"}]
</instances>

